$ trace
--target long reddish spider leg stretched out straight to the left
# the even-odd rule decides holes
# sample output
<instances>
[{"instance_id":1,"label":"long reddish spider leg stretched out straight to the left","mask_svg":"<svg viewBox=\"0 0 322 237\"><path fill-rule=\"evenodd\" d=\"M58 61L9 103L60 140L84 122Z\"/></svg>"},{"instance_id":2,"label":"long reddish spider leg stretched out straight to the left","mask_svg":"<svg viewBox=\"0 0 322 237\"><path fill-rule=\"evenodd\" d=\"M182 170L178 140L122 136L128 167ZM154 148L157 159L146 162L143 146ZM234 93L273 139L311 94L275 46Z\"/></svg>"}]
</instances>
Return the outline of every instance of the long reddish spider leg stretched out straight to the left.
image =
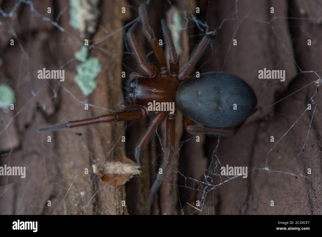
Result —
<instances>
[{"instance_id":1,"label":"long reddish spider leg stretched out straight to the left","mask_svg":"<svg viewBox=\"0 0 322 237\"><path fill-rule=\"evenodd\" d=\"M81 120L74 120L69 121L67 123L55 124L46 128L39 128L38 132L43 131L57 131L63 128L74 128L74 127L81 127L90 124L96 123L108 123L113 121L132 121L141 119L142 117L148 115L148 110L145 107L137 109L131 112L118 112L115 114L106 114L99 117L91 118L91 119L81 119Z\"/></svg>"}]
</instances>

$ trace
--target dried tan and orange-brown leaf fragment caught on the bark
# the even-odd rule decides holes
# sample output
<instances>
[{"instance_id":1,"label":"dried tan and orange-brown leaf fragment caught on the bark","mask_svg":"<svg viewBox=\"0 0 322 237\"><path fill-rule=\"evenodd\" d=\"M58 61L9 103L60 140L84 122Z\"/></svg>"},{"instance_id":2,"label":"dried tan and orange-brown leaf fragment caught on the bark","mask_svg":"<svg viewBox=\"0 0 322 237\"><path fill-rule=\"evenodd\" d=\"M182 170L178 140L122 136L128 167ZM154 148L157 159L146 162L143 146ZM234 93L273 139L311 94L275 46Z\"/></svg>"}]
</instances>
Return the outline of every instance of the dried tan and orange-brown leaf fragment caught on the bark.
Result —
<instances>
[{"instance_id":1,"label":"dried tan and orange-brown leaf fragment caught on the bark","mask_svg":"<svg viewBox=\"0 0 322 237\"><path fill-rule=\"evenodd\" d=\"M124 156L120 159L104 162L102 165L93 165L93 172L100 179L110 185L124 185L134 175L140 175L140 166Z\"/></svg>"}]
</instances>

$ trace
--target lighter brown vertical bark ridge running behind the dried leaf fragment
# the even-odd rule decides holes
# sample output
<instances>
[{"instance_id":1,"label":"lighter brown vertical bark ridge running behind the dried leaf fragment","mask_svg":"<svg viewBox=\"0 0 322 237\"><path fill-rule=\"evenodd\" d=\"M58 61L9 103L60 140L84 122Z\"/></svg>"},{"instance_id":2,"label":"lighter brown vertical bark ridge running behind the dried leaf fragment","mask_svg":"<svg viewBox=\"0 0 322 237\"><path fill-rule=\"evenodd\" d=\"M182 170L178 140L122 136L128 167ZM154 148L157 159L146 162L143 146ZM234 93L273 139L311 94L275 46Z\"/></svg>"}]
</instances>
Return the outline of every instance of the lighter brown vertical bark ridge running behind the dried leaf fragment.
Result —
<instances>
[{"instance_id":1,"label":"lighter brown vertical bark ridge running behind the dried leaf fragment","mask_svg":"<svg viewBox=\"0 0 322 237\"><path fill-rule=\"evenodd\" d=\"M124 20L129 16L120 13L120 9L124 5L124 1L104 1L102 3L101 9L105 14L100 19L101 29L95 34L94 42L104 37L106 33L115 32L122 27ZM98 82L96 93L91 96L90 102L113 110L118 110L118 103L123 100L121 80L123 41L119 40L123 33L123 30L121 30L97 45L111 52L113 56L100 50L93 52L93 56L99 58L103 68L102 73L96 79ZM101 112L100 109L92 109L92 114ZM119 159L126 155L125 144L121 142L121 136L125 135L123 122L90 128L90 133L90 151L92 157L97 159L98 163ZM100 190L94 203L95 213L128 214L127 208L121 205L122 201L126 200L125 185L114 186L97 182L93 189L93 192Z\"/></svg>"}]
</instances>

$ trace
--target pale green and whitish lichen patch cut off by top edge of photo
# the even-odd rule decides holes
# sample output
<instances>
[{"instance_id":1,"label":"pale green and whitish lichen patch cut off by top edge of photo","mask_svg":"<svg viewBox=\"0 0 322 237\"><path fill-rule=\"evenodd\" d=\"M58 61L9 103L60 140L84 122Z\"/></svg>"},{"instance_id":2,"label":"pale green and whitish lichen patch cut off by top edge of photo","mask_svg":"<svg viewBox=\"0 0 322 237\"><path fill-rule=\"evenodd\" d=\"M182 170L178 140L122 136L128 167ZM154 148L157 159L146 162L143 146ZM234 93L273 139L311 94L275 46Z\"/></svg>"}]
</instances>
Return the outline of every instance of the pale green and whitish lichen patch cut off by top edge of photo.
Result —
<instances>
[{"instance_id":1,"label":"pale green and whitish lichen patch cut off by top edge of photo","mask_svg":"<svg viewBox=\"0 0 322 237\"><path fill-rule=\"evenodd\" d=\"M94 33L99 17L99 0L69 0L69 24L80 30Z\"/></svg>"}]
</instances>

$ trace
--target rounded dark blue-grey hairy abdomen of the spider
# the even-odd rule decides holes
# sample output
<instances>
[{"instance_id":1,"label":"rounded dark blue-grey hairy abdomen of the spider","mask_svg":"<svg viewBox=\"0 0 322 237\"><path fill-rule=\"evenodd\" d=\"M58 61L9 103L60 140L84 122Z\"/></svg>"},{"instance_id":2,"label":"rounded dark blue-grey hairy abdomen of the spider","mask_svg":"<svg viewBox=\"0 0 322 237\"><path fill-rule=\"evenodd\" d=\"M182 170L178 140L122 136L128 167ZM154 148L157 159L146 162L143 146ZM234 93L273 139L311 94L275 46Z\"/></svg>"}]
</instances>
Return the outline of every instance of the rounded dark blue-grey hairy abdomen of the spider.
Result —
<instances>
[{"instance_id":1,"label":"rounded dark blue-grey hairy abdomen of the spider","mask_svg":"<svg viewBox=\"0 0 322 237\"><path fill-rule=\"evenodd\" d=\"M227 72L208 72L182 82L176 106L189 119L212 128L228 128L246 120L257 99L251 87Z\"/></svg>"}]
</instances>

